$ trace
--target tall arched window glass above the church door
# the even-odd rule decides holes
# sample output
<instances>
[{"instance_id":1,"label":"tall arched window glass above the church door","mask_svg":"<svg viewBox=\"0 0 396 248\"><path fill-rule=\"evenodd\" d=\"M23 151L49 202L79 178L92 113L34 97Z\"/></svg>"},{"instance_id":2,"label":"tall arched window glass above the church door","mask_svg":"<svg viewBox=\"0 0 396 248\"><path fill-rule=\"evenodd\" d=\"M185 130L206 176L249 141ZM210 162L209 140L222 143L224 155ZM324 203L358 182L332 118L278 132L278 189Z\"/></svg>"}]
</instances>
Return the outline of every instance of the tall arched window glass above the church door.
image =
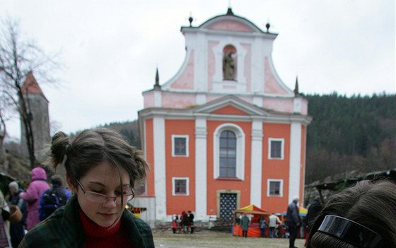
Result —
<instances>
[{"instance_id":1,"label":"tall arched window glass above the church door","mask_svg":"<svg viewBox=\"0 0 396 248\"><path fill-rule=\"evenodd\" d=\"M220 177L236 177L236 137L233 131L222 131L219 147Z\"/></svg>"}]
</instances>

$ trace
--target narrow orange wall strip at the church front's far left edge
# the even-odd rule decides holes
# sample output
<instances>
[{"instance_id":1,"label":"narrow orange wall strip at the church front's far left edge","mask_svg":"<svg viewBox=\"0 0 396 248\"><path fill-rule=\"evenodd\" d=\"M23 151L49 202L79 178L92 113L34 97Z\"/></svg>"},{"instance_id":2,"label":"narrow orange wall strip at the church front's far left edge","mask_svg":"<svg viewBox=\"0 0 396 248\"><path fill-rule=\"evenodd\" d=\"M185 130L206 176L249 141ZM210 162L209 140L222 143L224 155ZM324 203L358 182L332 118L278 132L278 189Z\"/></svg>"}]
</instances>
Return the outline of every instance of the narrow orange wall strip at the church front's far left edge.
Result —
<instances>
[{"instance_id":1,"label":"narrow orange wall strip at the church front's far left edge","mask_svg":"<svg viewBox=\"0 0 396 248\"><path fill-rule=\"evenodd\" d=\"M144 127L146 133L146 161L150 166L150 171L147 174L146 180L146 194L147 196L154 196L154 153L153 153L153 119L145 119Z\"/></svg>"}]
</instances>

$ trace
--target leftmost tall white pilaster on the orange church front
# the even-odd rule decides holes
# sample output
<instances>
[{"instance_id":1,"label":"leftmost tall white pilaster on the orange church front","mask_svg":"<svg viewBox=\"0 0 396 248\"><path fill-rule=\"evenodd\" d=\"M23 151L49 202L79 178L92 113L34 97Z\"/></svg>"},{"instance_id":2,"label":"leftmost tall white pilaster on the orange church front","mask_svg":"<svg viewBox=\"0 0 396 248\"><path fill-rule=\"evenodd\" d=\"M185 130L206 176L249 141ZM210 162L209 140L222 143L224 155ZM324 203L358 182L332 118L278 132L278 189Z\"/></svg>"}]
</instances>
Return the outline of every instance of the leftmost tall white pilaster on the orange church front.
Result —
<instances>
[{"instance_id":1,"label":"leftmost tall white pilaster on the orange church front","mask_svg":"<svg viewBox=\"0 0 396 248\"><path fill-rule=\"evenodd\" d=\"M153 117L153 137L156 219L166 220L165 118L162 116Z\"/></svg>"}]
</instances>

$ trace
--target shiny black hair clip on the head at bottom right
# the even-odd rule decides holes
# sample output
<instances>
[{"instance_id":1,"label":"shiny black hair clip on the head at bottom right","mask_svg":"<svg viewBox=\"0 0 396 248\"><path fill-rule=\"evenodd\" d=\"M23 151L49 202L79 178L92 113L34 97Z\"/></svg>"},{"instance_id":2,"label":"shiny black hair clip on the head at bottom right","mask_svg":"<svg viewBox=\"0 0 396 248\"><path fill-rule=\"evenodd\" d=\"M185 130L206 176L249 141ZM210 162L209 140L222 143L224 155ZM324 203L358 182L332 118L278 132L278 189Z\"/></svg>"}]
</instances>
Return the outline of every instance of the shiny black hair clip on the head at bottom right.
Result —
<instances>
[{"instance_id":1,"label":"shiny black hair clip on the head at bottom right","mask_svg":"<svg viewBox=\"0 0 396 248\"><path fill-rule=\"evenodd\" d=\"M361 248L383 247L385 241L370 228L337 215L326 215L318 232L324 232Z\"/></svg>"}]
</instances>

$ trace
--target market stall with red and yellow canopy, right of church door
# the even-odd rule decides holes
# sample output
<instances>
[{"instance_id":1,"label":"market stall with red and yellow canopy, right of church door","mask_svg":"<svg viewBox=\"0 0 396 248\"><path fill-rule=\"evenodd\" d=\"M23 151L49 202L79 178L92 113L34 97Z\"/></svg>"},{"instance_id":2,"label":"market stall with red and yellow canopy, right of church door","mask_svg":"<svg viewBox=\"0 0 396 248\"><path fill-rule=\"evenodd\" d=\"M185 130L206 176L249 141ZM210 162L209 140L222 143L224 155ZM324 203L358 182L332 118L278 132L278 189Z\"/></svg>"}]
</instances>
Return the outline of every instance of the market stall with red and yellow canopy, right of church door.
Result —
<instances>
[{"instance_id":1,"label":"market stall with red and yellow canopy, right of church door","mask_svg":"<svg viewBox=\"0 0 396 248\"><path fill-rule=\"evenodd\" d=\"M242 236L242 228L240 228L239 220L240 220L240 215L243 215L243 213L246 213L247 215L251 215L251 217L252 217L252 218L250 218L248 237L260 237L260 225L259 225L260 218L261 218L261 216L263 216L264 218L266 218L266 221L268 223L269 212L264 211L261 208L255 206L253 204L250 204L243 208L235 209L235 211L233 211L233 214L234 214L233 235L234 236ZM267 233L266 233L266 236L268 236Z\"/></svg>"}]
</instances>

